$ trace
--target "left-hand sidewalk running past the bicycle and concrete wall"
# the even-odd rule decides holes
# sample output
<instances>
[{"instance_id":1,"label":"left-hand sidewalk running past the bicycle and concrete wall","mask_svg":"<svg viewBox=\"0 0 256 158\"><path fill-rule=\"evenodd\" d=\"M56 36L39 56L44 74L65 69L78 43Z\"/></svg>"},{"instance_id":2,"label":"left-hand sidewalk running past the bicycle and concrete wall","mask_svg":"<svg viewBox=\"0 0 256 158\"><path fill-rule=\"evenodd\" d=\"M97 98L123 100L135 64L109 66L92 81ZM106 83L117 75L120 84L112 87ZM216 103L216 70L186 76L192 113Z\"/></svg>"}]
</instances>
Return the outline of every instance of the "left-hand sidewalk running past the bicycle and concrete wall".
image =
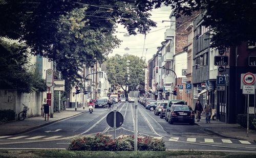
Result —
<instances>
[{"instance_id":1,"label":"left-hand sidewalk running past the bicycle and concrete wall","mask_svg":"<svg viewBox=\"0 0 256 158\"><path fill-rule=\"evenodd\" d=\"M88 111L88 107L86 107L85 109L83 109L82 107L77 108L77 111L75 111L75 108L67 108L65 111L61 111L60 113L54 113L53 118L49 117L49 121L47 121L47 118L45 121L45 118L42 118L42 116L37 116L26 118L23 121L11 121L0 124L0 136L17 135L20 133L24 133L25 131L29 131L72 116L76 116L86 111Z\"/></svg>"}]
</instances>

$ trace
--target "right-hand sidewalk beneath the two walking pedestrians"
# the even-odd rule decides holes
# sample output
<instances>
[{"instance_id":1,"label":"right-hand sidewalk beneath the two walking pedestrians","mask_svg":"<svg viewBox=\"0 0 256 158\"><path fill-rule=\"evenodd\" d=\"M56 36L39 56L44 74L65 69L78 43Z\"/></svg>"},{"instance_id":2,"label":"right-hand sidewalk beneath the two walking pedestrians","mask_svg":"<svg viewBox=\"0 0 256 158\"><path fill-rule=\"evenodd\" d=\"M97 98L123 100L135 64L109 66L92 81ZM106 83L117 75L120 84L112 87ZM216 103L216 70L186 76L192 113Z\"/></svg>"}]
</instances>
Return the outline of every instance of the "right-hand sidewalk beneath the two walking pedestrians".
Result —
<instances>
[{"instance_id":1,"label":"right-hand sidewalk beneath the two walking pedestrians","mask_svg":"<svg viewBox=\"0 0 256 158\"><path fill-rule=\"evenodd\" d=\"M247 129L240 124L228 124L218 120L211 120L210 123L206 123L204 114L201 115L199 122L197 122L197 120L195 121L195 123L201 126L205 131L221 137L247 140L249 142L256 140L256 131L249 130L249 137L246 137Z\"/></svg>"}]
</instances>

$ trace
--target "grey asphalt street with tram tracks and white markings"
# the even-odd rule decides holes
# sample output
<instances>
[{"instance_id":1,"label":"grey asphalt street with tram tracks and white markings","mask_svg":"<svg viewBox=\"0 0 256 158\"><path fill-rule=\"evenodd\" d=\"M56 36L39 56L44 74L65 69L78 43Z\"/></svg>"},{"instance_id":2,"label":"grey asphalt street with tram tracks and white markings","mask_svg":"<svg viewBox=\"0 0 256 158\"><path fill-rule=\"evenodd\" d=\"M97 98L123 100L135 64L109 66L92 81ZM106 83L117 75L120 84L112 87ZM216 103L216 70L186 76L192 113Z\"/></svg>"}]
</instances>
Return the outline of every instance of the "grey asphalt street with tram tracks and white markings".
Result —
<instances>
[{"instance_id":1,"label":"grey asphalt street with tram tracks and white markings","mask_svg":"<svg viewBox=\"0 0 256 158\"><path fill-rule=\"evenodd\" d=\"M117 103L124 122L116 131L117 137L133 135L134 103ZM114 135L113 128L106 123L110 111L103 108L94 109L80 115L49 124L15 136L0 136L0 148L43 148L66 149L73 137L92 136L97 133ZM210 124L209 124L210 125ZM215 151L248 151L255 152L253 142L222 138L207 133L198 125L169 124L165 119L154 115L154 112L138 106L138 135L163 139L169 150L215 150Z\"/></svg>"}]
</instances>

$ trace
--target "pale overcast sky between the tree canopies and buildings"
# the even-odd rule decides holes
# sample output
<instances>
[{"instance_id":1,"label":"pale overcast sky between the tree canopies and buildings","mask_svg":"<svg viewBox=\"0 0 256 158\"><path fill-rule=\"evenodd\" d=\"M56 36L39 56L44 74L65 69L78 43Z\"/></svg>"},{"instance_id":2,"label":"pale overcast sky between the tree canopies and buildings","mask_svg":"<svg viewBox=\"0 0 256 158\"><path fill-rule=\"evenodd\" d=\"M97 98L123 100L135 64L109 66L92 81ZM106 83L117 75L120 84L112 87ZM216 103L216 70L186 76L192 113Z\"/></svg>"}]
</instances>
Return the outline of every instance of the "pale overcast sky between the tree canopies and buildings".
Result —
<instances>
[{"instance_id":1,"label":"pale overcast sky between the tree canopies and buildings","mask_svg":"<svg viewBox=\"0 0 256 158\"><path fill-rule=\"evenodd\" d=\"M156 28L151 28L149 34L146 35L145 48L143 51L144 35L137 34L131 35L130 37L123 37L125 33L116 33L118 39L122 40L120 47L113 50L113 53L109 57L115 54L124 55L130 54L138 57L145 57L146 62L156 54L157 47L161 46L161 42L164 41L164 32L169 28L170 22L162 22L162 20L169 20L170 7L161 7L154 9L152 12L151 19L157 22ZM118 25L118 32L127 32L122 25ZM130 48L130 50L124 50L124 48ZM146 50L147 49L147 50Z\"/></svg>"}]
</instances>

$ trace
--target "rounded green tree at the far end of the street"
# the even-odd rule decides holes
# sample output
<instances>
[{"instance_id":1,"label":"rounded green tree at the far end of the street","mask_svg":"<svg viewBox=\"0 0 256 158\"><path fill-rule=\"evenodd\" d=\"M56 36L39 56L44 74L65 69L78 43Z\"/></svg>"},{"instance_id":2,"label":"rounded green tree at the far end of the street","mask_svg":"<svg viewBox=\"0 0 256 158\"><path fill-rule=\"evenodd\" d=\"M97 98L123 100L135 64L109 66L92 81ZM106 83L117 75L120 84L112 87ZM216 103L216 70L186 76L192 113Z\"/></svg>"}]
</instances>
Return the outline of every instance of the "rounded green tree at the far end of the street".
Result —
<instances>
[{"instance_id":1,"label":"rounded green tree at the far end of the street","mask_svg":"<svg viewBox=\"0 0 256 158\"><path fill-rule=\"evenodd\" d=\"M138 85L144 85L145 74L143 69L145 67L146 63L141 58L133 55L115 55L106 61L110 84L121 87L125 94L131 88L135 89ZM130 70L130 73L127 73L127 69Z\"/></svg>"}]
</instances>

